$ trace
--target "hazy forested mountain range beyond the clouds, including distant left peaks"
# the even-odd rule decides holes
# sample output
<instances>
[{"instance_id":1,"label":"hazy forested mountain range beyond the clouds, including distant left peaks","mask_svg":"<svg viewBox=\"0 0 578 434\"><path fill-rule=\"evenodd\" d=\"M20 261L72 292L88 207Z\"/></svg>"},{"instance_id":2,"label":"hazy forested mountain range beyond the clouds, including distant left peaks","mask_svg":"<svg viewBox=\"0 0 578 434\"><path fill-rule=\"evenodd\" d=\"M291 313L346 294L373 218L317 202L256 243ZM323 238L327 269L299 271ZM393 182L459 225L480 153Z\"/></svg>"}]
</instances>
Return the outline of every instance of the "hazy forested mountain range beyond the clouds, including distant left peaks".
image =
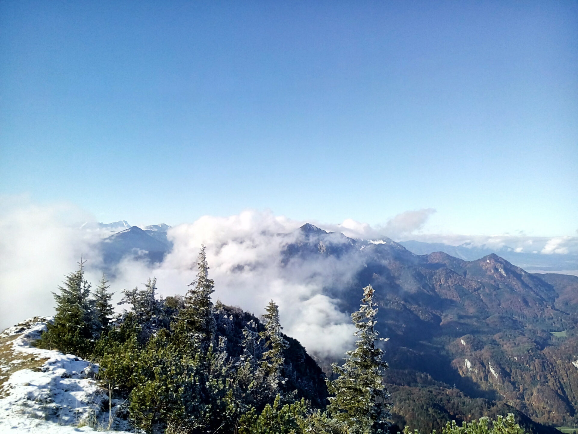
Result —
<instances>
[{"instance_id":1,"label":"hazy forested mountain range beyond the clouds, including distant left peaks","mask_svg":"<svg viewBox=\"0 0 578 434\"><path fill-rule=\"evenodd\" d=\"M171 250L168 229L132 226L105 238L105 263L126 255L161 262ZM576 424L578 277L529 273L494 252L470 259L464 249L475 249L416 243L354 240L306 224L287 237L280 262L313 275L338 260L349 278L329 279L322 291L347 314L360 288L375 288L398 426L429 432L445 420L509 412L535 421L536 432ZM454 255L417 254L443 246ZM339 362L318 360L329 376Z\"/></svg>"}]
</instances>

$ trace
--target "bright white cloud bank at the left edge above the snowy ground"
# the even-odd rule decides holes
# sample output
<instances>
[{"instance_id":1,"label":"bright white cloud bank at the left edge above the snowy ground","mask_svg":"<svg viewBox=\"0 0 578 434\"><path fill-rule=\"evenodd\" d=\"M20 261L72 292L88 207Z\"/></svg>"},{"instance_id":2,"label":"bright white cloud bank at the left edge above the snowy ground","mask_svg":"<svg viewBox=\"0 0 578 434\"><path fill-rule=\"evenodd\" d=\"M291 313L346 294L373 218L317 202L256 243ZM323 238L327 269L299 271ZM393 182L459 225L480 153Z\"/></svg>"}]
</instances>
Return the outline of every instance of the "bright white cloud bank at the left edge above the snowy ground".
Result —
<instances>
[{"instance_id":1,"label":"bright white cloud bank at the left edge above the snowy ground","mask_svg":"<svg viewBox=\"0 0 578 434\"><path fill-rule=\"evenodd\" d=\"M33 315L52 315L51 290L84 258L98 262L94 239L73 222L90 218L61 203L32 204L26 196L0 197L0 329Z\"/></svg>"}]
</instances>

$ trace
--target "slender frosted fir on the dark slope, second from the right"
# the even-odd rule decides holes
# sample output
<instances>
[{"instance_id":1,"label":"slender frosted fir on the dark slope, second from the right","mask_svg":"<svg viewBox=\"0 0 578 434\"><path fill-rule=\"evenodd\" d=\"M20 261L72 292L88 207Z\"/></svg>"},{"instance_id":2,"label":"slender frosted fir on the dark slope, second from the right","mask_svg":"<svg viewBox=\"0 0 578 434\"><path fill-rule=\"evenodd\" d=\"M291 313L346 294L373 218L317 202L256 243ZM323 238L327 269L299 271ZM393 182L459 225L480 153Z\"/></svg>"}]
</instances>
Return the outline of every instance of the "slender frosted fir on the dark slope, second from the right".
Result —
<instances>
[{"instance_id":1,"label":"slender frosted fir on the dark slope, second from the right","mask_svg":"<svg viewBox=\"0 0 578 434\"><path fill-rule=\"evenodd\" d=\"M265 341L265 347L268 350L263 352L261 358L261 367L265 370L269 377L272 378L274 384L283 382L283 350L289 344L281 335L281 323L279 322L279 306L275 301L269 301L269 306L266 308L267 313L263 315L265 319L265 330L259 333L260 340Z\"/></svg>"}]
</instances>

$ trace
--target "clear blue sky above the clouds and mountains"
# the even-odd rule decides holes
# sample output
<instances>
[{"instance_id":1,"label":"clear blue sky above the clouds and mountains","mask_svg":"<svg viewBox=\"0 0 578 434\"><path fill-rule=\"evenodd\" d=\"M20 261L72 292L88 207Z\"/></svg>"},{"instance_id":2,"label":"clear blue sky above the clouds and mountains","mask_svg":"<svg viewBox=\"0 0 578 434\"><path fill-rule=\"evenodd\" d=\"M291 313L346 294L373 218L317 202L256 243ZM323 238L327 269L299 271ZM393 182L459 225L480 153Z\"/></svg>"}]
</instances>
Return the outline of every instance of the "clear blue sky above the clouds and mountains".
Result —
<instances>
[{"instance_id":1,"label":"clear blue sky above the clouds and mountains","mask_svg":"<svg viewBox=\"0 0 578 434\"><path fill-rule=\"evenodd\" d=\"M576 1L0 1L0 193L576 235Z\"/></svg>"}]
</instances>

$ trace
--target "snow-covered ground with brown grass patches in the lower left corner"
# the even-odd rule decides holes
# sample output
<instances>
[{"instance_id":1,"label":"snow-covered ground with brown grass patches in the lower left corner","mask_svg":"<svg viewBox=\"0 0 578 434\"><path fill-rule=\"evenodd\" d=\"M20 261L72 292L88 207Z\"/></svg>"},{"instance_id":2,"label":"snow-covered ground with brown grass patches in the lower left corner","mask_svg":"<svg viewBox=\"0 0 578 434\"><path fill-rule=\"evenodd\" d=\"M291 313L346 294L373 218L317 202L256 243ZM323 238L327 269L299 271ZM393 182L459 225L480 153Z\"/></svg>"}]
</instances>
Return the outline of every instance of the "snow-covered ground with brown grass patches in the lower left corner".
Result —
<instances>
[{"instance_id":1,"label":"snow-covered ground with brown grass patches in the lower left corner","mask_svg":"<svg viewBox=\"0 0 578 434\"><path fill-rule=\"evenodd\" d=\"M0 334L0 432L68 434L127 429L109 424L108 393L94 379L98 365L31 345L50 318L35 317ZM118 431L117 431L118 432Z\"/></svg>"}]
</instances>

